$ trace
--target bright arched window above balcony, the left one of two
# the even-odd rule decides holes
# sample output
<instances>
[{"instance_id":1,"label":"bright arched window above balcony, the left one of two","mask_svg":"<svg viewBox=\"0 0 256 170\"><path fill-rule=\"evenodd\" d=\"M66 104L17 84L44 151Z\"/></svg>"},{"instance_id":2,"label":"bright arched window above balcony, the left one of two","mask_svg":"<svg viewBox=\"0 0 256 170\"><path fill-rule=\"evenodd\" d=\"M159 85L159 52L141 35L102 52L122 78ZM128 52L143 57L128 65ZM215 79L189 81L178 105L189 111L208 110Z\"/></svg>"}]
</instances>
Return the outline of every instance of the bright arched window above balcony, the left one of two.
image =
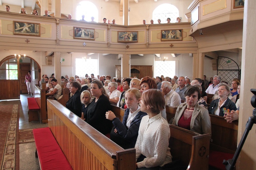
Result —
<instances>
[{"instance_id":1,"label":"bright arched window above balcony, the left one of two","mask_svg":"<svg viewBox=\"0 0 256 170\"><path fill-rule=\"evenodd\" d=\"M76 20L81 20L82 15L86 21L91 21L91 17L94 17L94 21L98 22L98 9L96 5L90 1L81 1L76 7Z\"/></svg>"}]
</instances>

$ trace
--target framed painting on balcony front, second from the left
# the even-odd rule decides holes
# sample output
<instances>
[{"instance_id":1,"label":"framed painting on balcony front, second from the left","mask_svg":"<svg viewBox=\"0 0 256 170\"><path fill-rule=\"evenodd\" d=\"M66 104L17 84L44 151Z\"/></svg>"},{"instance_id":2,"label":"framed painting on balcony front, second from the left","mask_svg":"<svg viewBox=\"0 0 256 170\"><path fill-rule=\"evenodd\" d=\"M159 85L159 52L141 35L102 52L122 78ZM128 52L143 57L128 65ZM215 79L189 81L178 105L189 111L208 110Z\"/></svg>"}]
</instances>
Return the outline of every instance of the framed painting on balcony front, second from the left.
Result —
<instances>
[{"instance_id":1,"label":"framed painting on balcony front, second from the left","mask_svg":"<svg viewBox=\"0 0 256 170\"><path fill-rule=\"evenodd\" d=\"M74 36L75 39L89 39L95 40L95 29L91 28L80 28L80 27L73 27L74 29Z\"/></svg>"}]
</instances>

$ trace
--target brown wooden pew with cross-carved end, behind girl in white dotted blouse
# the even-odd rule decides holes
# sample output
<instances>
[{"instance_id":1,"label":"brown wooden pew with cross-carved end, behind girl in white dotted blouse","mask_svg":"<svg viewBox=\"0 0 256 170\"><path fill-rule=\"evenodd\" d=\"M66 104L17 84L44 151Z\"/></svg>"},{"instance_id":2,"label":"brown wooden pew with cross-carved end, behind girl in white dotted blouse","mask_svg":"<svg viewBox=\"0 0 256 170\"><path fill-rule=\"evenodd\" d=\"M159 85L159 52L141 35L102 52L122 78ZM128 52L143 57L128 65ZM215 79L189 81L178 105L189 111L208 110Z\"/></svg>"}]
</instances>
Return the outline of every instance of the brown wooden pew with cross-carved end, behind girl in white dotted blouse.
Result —
<instances>
[{"instance_id":1,"label":"brown wooden pew with cross-carved end, behind girl in white dotted blouse","mask_svg":"<svg viewBox=\"0 0 256 170\"><path fill-rule=\"evenodd\" d=\"M123 121L125 109L111 105L112 112ZM167 119L175 116L176 107L166 106ZM180 159L187 169L208 169L210 135L198 133L169 124L169 147L173 160Z\"/></svg>"}]
</instances>

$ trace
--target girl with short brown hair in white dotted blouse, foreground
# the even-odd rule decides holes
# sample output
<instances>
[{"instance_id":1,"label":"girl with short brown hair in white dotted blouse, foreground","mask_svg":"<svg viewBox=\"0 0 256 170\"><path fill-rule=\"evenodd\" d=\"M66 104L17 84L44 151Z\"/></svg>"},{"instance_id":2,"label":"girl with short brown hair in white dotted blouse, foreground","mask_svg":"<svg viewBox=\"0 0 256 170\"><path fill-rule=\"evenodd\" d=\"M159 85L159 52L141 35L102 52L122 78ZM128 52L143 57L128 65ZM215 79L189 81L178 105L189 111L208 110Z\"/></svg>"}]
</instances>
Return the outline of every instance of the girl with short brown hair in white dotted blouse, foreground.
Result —
<instances>
[{"instance_id":1,"label":"girl with short brown hair in white dotted blouse, foreground","mask_svg":"<svg viewBox=\"0 0 256 170\"><path fill-rule=\"evenodd\" d=\"M158 89L149 89L142 93L141 111L146 112L140 123L135 144L136 168L159 169L172 162L169 139L170 129L160 111L165 108L165 98ZM145 168L143 168L145 169Z\"/></svg>"}]
</instances>

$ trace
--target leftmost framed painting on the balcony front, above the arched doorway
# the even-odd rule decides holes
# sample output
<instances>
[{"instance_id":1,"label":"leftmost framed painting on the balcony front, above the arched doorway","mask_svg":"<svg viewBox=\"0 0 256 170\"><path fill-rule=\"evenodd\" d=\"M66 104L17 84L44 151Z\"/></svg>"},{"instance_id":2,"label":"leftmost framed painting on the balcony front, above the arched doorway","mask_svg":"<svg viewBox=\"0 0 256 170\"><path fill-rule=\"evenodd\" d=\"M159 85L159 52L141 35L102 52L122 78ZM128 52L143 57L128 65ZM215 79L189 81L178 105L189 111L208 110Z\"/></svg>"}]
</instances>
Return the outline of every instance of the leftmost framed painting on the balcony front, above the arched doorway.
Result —
<instances>
[{"instance_id":1,"label":"leftmost framed painting on the balcony front, above the arched doorway","mask_svg":"<svg viewBox=\"0 0 256 170\"><path fill-rule=\"evenodd\" d=\"M13 34L40 36L40 23L13 21Z\"/></svg>"}]
</instances>

